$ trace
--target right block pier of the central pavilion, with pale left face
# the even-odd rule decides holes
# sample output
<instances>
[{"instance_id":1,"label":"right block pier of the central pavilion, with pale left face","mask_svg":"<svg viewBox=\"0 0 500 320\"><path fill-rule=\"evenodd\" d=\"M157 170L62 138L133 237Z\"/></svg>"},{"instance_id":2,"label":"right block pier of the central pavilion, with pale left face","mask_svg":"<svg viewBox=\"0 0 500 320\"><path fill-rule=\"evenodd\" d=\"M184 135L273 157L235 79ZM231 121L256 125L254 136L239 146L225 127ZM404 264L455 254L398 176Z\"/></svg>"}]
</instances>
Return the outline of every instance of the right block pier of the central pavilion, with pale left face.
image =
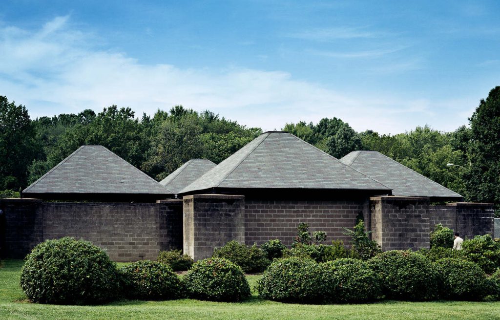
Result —
<instances>
[{"instance_id":1,"label":"right block pier of the central pavilion, with pale left face","mask_svg":"<svg viewBox=\"0 0 500 320\"><path fill-rule=\"evenodd\" d=\"M371 237L382 250L429 247L429 198L371 197Z\"/></svg>"}]
</instances>

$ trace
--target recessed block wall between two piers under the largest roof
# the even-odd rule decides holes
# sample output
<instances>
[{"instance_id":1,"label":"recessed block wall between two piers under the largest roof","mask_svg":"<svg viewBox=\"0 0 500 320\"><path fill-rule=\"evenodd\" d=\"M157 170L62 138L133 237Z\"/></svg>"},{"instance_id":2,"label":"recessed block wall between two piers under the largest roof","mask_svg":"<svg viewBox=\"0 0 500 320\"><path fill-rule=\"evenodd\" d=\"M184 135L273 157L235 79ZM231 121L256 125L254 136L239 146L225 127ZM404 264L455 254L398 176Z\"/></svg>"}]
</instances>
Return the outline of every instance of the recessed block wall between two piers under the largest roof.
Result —
<instances>
[{"instance_id":1,"label":"recessed block wall between two piers under the largest roof","mask_svg":"<svg viewBox=\"0 0 500 320\"><path fill-rule=\"evenodd\" d=\"M305 222L309 230L325 231L327 242L340 239L348 245L343 227L352 228L367 207L363 200L255 200L245 199L245 243L262 244L280 239L290 245L297 225Z\"/></svg>"}]
</instances>

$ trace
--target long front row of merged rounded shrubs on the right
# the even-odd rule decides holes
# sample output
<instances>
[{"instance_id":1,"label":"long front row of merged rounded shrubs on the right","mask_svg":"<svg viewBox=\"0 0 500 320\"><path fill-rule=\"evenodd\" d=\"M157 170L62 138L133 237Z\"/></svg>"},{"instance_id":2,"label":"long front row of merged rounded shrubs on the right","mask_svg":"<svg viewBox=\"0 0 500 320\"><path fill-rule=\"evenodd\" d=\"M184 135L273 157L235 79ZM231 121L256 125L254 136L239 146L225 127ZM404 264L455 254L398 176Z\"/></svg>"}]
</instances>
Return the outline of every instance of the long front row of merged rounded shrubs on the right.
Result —
<instances>
[{"instance_id":1,"label":"long front row of merged rounded shrubs on the right","mask_svg":"<svg viewBox=\"0 0 500 320\"><path fill-rule=\"evenodd\" d=\"M275 260L257 285L259 296L286 302L396 300L480 300L500 297L500 271L489 280L475 263L456 258L432 262L412 251L386 251L367 262L341 258L315 263L288 257Z\"/></svg>"}]
</instances>

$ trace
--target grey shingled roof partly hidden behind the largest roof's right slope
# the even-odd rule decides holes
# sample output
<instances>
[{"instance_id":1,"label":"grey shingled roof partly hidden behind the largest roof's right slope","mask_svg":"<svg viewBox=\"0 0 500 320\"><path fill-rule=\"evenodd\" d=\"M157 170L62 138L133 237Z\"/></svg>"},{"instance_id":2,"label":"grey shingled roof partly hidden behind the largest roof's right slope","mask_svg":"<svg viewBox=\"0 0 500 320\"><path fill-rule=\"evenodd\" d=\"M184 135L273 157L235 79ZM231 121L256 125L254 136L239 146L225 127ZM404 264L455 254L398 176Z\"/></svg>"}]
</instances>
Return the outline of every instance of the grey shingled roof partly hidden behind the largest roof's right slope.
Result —
<instances>
[{"instance_id":1,"label":"grey shingled roof partly hidden behind the largest roof's right slope","mask_svg":"<svg viewBox=\"0 0 500 320\"><path fill-rule=\"evenodd\" d=\"M460 194L378 151L352 151L340 161L387 185L393 195L462 198Z\"/></svg>"}]
</instances>

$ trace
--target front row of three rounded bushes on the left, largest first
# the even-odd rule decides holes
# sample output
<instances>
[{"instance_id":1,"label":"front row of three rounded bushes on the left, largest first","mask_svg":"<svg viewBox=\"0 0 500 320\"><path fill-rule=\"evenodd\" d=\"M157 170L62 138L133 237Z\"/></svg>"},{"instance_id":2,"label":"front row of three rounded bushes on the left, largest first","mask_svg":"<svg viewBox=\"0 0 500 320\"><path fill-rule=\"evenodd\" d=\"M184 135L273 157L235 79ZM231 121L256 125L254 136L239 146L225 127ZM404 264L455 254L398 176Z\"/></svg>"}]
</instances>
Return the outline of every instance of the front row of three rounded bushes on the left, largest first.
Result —
<instances>
[{"instance_id":1,"label":"front row of three rounded bushes on the left, largest first","mask_svg":"<svg viewBox=\"0 0 500 320\"><path fill-rule=\"evenodd\" d=\"M121 296L236 301L250 295L242 269L223 258L197 261L179 279L168 264L158 261L117 269L101 248L71 237L36 245L26 256L20 285L29 300L55 304L98 304Z\"/></svg>"}]
</instances>

